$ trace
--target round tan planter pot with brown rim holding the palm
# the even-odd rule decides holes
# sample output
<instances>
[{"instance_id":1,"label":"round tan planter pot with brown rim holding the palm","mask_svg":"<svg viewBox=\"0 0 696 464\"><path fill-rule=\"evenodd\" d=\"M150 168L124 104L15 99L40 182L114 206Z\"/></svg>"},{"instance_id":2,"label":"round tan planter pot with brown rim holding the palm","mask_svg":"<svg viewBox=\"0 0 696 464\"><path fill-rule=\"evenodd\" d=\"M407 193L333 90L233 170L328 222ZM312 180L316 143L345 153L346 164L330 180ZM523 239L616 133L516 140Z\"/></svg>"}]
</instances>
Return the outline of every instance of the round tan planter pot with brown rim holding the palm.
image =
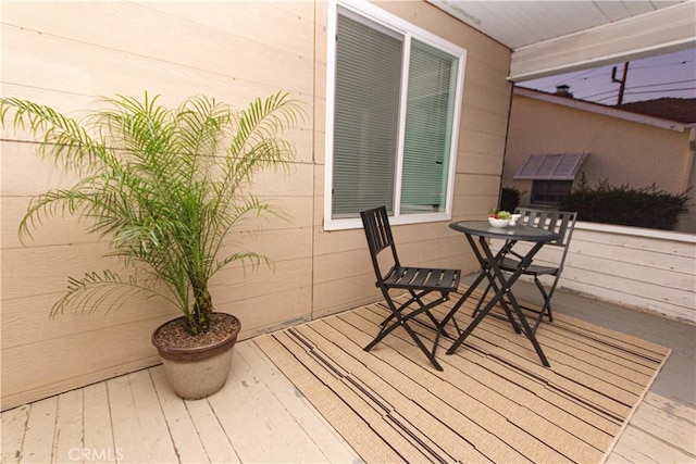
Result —
<instances>
[{"instance_id":1,"label":"round tan planter pot with brown rim holding the palm","mask_svg":"<svg viewBox=\"0 0 696 464\"><path fill-rule=\"evenodd\" d=\"M229 376L233 348L241 324L231 314L219 314L233 318L236 322L236 329L215 343L196 348L176 348L156 340L160 330L183 317L162 324L152 334L152 344L162 359L166 378L176 394L185 400L199 400L216 393Z\"/></svg>"}]
</instances>

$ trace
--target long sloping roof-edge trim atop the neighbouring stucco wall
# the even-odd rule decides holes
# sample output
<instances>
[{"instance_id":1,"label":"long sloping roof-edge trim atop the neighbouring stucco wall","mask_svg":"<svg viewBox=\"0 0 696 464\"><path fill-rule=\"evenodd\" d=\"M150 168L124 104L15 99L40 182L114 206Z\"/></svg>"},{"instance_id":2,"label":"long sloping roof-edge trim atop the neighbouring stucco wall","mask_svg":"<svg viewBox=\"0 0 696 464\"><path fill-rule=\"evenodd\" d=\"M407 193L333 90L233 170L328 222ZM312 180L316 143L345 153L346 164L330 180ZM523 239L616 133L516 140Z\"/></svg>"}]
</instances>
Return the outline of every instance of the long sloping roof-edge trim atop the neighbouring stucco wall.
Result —
<instances>
[{"instance_id":1,"label":"long sloping roof-edge trim atop the neighbouring stucco wall","mask_svg":"<svg viewBox=\"0 0 696 464\"><path fill-rule=\"evenodd\" d=\"M693 127L693 124L691 123L687 124L678 121L670 121L662 117L629 111L623 108L619 109L617 106L606 106L604 104L595 103L592 101L580 100L572 97L563 97L555 93L547 93L540 90L533 90L524 87L515 86L513 92L515 96L527 97L535 100L559 104L562 106L575 108L577 110L588 111L596 114L604 114L606 116L632 121L635 123L647 124L650 126L661 127L663 129L675 130L679 133L683 133L687 128Z\"/></svg>"}]
</instances>

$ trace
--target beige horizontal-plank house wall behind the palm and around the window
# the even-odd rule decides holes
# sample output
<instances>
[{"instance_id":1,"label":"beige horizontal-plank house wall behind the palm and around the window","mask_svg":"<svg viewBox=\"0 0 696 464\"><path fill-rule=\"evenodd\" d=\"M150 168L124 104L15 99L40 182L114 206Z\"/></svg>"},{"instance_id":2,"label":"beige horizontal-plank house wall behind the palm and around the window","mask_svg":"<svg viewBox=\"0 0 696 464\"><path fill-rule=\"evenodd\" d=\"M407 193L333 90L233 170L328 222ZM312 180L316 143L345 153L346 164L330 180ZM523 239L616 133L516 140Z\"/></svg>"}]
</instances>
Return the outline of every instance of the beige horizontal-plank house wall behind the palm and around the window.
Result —
<instances>
[{"instance_id":1,"label":"beige horizontal-plank house wall behind the palm and around the window","mask_svg":"<svg viewBox=\"0 0 696 464\"><path fill-rule=\"evenodd\" d=\"M485 215L500 186L509 50L424 1L378 4L468 50L453 220ZM195 93L236 106L278 90L302 100L308 117L290 134L289 172L254 183L290 220L271 218L231 243L268 254L274 268L232 266L211 288L217 311L236 314L249 338L377 298L362 230L322 227L326 20L323 0L3 2L2 95L67 112L145 90L172 105ZM159 363L150 334L177 316L160 301L134 299L112 314L49 318L69 275L117 264L74 220L48 220L18 241L29 199L71 183L26 140L3 129L0 147L3 410ZM399 226L395 236L403 261L474 268L446 223Z\"/></svg>"}]
</instances>

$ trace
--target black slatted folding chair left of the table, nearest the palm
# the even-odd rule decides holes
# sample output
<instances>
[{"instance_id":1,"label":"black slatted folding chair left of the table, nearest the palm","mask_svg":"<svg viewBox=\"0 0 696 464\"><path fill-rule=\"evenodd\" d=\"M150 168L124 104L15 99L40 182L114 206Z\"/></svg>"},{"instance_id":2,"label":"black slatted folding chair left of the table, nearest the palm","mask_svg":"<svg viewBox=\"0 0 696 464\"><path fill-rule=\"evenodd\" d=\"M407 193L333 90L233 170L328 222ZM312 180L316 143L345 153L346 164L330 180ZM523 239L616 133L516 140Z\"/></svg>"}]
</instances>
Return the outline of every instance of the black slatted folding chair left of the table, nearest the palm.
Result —
<instances>
[{"instance_id":1,"label":"black slatted folding chair left of the table, nearest the palm","mask_svg":"<svg viewBox=\"0 0 696 464\"><path fill-rule=\"evenodd\" d=\"M372 265L377 278L376 286L382 290L382 294L391 311L391 314L382 323L382 328L375 339L364 350L370 351L395 328L403 327L435 368L443 371L443 367L435 359L435 351L437 350L439 338L444 334L444 327L431 310L447 301L450 292L457 291L461 271L401 266L396 252L394 237L391 236L386 208L381 206L363 211L360 216L368 239ZM381 255L385 250L389 250L390 254ZM386 267L389 267L388 271L383 272L383 268ZM390 290L401 290L401 293L407 290L410 298L405 303L399 304L390 296ZM423 302L423 297L431 292L438 292L439 297L431 302ZM433 326L415 319L421 314L425 314ZM432 350L425 347L421 337L409 326L411 322L426 325L436 331Z\"/></svg>"}]
</instances>

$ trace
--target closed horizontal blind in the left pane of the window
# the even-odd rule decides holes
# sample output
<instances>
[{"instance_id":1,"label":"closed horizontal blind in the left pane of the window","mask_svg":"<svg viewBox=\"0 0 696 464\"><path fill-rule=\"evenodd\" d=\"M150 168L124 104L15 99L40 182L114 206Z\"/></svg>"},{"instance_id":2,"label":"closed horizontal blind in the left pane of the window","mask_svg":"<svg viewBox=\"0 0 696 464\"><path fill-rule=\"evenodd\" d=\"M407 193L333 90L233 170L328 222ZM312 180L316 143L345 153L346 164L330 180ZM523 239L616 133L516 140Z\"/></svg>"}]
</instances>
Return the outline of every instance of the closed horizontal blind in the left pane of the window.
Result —
<instances>
[{"instance_id":1,"label":"closed horizontal blind in the left pane of the window","mask_svg":"<svg viewBox=\"0 0 696 464\"><path fill-rule=\"evenodd\" d=\"M403 41L347 14L336 40L333 217L394 211Z\"/></svg>"}]
</instances>

